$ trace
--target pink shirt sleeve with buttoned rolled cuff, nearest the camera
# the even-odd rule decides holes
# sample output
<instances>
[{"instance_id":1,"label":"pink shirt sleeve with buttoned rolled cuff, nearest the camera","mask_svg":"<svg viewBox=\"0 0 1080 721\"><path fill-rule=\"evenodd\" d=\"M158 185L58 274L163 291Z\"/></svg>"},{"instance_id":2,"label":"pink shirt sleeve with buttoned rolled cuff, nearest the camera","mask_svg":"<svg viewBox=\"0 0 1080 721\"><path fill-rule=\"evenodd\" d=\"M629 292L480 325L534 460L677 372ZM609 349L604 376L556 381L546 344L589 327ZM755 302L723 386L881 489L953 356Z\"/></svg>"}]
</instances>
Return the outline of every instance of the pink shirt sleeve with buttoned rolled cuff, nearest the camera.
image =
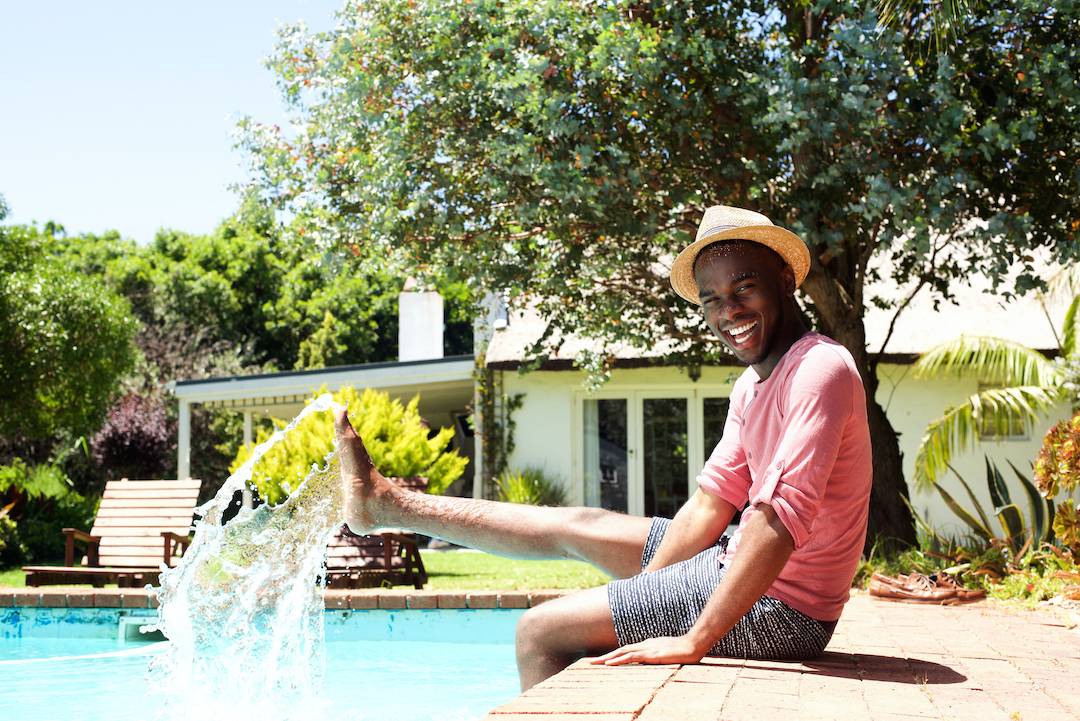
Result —
<instances>
[{"instance_id":1,"label":"pink shirt sleeve with buttoned rolled cuff, nearest the camera","mask_svg":"<svg viewBox=\"0 0 1080 721\"><path fill-rule=\"evenodd\" d=\"M772 506L799 548L813 532L854 393L849 369L827 351L808 356L788 383L782 436L750 503Z\"/></svg>"}]
</instances>

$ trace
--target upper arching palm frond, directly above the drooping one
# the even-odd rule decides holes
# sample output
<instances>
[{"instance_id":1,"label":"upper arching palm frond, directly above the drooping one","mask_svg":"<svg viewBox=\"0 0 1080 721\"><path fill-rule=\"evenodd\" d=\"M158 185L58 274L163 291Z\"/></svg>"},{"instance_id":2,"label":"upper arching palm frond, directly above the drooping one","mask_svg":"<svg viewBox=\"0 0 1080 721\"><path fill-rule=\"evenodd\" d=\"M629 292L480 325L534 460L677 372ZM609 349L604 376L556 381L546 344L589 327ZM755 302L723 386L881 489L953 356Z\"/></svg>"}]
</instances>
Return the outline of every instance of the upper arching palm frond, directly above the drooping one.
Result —
<instances>
[{"instance_id":1,"label":"upper arching palm frond, directly above the drooping one","mask_svg":"<svg viewBox=\"0 0 1080 721\"><path fill-rule=\"evenodd\" d=\"M977 376L999 385L1057 386L1062 372L1023 343L993 336L959 336L933 346L915 363L916 378Z\"/></svg>"}]
</instances>

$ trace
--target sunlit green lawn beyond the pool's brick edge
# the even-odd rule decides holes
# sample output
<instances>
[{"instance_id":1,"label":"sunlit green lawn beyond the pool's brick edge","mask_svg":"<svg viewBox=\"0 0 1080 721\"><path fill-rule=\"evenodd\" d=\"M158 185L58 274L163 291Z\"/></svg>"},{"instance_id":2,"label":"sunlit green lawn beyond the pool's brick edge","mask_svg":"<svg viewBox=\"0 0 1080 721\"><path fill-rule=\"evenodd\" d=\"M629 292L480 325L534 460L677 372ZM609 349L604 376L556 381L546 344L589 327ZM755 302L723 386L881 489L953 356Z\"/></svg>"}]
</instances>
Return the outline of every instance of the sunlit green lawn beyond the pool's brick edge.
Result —
<instances>
[{"instance_id":1,"label":"sunlit green lawn beyond the pool's brick edge","mask_svg":"<svg viewBox=\"0 0 1080 721\"><path fill-rule=\"evenodd\" d=\"M420 553L429 575L424 587L434 590L590 588L608 581L606 574L580 561L519 561L471 550ZM25 585L19 569L0 570L0 588Z\"/></svg>"}]
</instances>

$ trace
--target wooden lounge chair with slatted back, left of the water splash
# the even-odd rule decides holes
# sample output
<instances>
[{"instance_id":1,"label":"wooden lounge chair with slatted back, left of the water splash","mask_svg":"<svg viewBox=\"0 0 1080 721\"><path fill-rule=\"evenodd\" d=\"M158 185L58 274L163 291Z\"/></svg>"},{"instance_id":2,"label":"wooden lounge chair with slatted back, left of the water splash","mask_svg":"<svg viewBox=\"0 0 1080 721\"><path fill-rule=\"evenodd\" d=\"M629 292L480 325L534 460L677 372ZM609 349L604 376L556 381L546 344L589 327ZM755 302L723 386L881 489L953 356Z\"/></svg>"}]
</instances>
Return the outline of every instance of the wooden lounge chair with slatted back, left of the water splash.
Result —
<instances>
[{"instance_id":1,"label":"wooden lounge chair with slatted back, left of the water splash","mask_svg":"<svg viewBox=\"0 0 1080 721\"><path fill-rule=\"evenodd\" d=\"M110 480L90 533L64 529L64 566L26 566L27 586L158 583L161 563L173 566L190 543L200 480ZM85 544L83 566L76 543Z\"/></svg>"}]
</instances>

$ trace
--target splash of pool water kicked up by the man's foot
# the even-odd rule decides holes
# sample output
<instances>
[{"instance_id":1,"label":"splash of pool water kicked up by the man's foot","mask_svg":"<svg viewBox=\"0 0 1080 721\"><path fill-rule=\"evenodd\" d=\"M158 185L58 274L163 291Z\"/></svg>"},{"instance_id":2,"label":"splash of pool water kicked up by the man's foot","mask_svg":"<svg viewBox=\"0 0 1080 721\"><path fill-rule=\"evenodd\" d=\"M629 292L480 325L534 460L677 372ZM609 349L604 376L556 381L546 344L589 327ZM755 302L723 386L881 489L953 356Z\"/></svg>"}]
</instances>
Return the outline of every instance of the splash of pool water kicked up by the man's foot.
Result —
<instances>
[{"instance_id":1,"label":"splash of pool water kicked up by the man's foot","mask_svg":"<svg viewBox=\"0 0 1080 721\"><path fill-rule=\"evenodd\" d=\"M151 665L164 718L287 721L325 716L323 598L315 583L341 523L336 453L276 506L222 523L255 464L300 421L335 408L329 394L255 448L211 501L195 535L161 574L156 628L170 640Z\"/></svg>"}]
</instances>

